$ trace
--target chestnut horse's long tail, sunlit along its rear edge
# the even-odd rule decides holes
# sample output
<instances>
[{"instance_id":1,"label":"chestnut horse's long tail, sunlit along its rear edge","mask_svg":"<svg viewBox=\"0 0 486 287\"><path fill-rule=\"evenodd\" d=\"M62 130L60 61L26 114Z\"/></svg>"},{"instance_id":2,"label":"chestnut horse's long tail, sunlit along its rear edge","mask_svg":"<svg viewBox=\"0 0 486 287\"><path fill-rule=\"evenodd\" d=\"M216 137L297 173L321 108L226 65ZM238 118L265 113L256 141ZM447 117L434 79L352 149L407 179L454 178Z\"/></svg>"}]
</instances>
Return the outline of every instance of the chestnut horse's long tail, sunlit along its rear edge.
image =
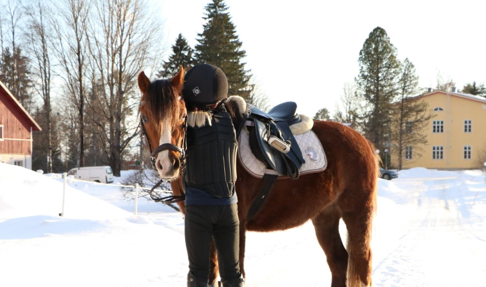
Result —
<instances>
[{"instance_id":1,"label":"chestnut horse's long tail, sunlit along its rear edge","mask_svg":"<svg viewBox=\"0 0 486 287\"><path fill-rule=\"evenodd\" d=\"M359 248L359 252L362 254L355 254L357 250L352 248L352 241L349 237L349 233L347 236L347 253L348 253L348 264L347 264L347 286L348 287L370 287L371 286L371 272L367 274L368 278L366 280L362 280L360 276L360 271L364 272L364 270L372 270L372 253L371 253L371 233L373 228L373 217L376 215L377 209L377 195L378 195L378 175L379 175L379 165L381 163L380 156L376 153L376 149L374 145L368 141L370 149L372 151L373 156L369 157L371 161L369 164L374 166L374 170L370 173L370 189L369 189L369 200L367 203L367 217L364 220L364 229L363 229L363 245ZM364 255L364 256L363 256ZM367 258L364 260L365 262L359 262L363 260L363 258ZM365 264L367 264L367 268L365 268ZM368 282L368 285L364 285L364 281Z\"/></svg>"}]
</instances>

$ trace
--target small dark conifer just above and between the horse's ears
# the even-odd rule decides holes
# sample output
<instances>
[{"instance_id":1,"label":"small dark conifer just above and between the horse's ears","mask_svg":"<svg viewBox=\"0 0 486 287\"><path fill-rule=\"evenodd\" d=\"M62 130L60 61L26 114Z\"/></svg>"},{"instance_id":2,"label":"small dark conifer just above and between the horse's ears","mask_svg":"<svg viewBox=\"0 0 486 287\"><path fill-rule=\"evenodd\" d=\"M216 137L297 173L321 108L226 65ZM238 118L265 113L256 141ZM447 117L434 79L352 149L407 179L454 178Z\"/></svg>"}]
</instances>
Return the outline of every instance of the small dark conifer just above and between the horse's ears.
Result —
<instances>
[{"instance_id":1,"label":"small dark conifer just above and between the horse's ears","mask_svg":"<svg viewBox=\"0 0 486 287\"><path fill-rule=\"evenodd\" d=\"M172 55L169 57L169 61L164 61L164 69L158 72L157 77L170 78L179 71L180 66L186 70L191 68L195 63L193 53L194 50L189 46L186 38L179 34L175 44L172 45Z\"/></svg>"}]
</instances>

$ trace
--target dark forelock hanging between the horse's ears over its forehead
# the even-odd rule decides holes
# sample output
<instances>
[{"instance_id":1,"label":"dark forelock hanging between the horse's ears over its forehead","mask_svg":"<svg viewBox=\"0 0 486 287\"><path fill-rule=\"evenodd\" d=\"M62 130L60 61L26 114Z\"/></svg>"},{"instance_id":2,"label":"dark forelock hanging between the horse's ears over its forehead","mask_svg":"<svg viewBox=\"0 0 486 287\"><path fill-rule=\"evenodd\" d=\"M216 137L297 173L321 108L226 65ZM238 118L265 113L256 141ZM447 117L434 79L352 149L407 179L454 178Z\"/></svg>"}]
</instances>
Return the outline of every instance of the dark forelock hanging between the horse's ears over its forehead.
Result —
<instances>
[{"instance_id":1,"label":"dark forelock hanging between the horse's ears over its forehead","mask_svg":"<svg viewBox=\"0 0 486 287\"><path fill-rule=\"evenodd\" d=\"M169 80L157 80L150 83L145 93L144 104L147 107L147 117L154 119L157 128L162 120L169 120L173 125L178 122L179 105L178 91Z\"/></svg>"}]
</instances>

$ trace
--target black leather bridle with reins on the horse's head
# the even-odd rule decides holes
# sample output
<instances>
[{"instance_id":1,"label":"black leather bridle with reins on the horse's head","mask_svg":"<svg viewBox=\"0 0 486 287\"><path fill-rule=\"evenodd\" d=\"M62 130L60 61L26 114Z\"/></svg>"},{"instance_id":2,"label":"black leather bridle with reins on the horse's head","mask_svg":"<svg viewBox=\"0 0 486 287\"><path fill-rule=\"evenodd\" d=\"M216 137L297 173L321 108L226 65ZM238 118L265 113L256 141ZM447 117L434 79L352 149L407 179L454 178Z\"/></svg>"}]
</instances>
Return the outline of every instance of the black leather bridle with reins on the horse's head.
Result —
<instances>
[{"instance_id":1,"label":"black leather bridle with reins on the horse's head","mask_svg":"<svg viewBox=\"0 0 486 287\"><path fill-rule=\"evenodd\" d=\"M182 142L181 146L176 146L172 143L164 143L156 147L155 150L152 150L152 147L150 145L150 141L147 137L147 132L145 130L145 123L147 122L147 118L143 115L140 114L140 126L142 129L143 136L145 137L145 142L147 144L147 147L149 148L150 151L150 162L152 163L152 167L154 169L157 169L156 167L156 155L159 152L166 151L166 150L171 150L174 152L179 152L179 161L181 164L181 168L184 169L186 165L186 150L187 150L187 114L184 116L184 123L183 123L183 134L182 134ZM184 201L186 199L186 196L183 194L182 196L179 195L170 195L170 196L165 196L165 197L155 197L152 193L153 191L159 187L163 183L163 180L160 179L158 183L152 189L150 189L149 195L150 198L152 198L155 202L163 202L163 203L177 203Z\"/></svg>"}]
</instances>

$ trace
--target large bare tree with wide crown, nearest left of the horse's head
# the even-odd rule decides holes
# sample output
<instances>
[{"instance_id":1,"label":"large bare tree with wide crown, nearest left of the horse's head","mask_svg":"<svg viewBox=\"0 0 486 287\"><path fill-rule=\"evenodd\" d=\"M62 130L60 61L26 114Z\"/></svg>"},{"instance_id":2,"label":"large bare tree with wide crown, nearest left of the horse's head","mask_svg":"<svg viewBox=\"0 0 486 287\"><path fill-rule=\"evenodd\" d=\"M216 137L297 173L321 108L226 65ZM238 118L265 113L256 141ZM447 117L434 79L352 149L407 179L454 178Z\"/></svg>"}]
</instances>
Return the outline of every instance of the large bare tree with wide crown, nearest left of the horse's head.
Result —
<instances>
[{"instance_id":1,"label":"large bare tree with wide crown, nearest left of the horse's head","mask_svg":"<svg viewBox=\"0 0 486 287\"><path fill-rule=\"evenodd\" d=\"M138 122L126 120L136 113L138 95L134 82L153 51L160 45L160 24L154 22L141 0L117 0L95 3L90 23L89 51L95 69L91 106L99 106L100 140L105 143L109 165L120 176L121 155L130 140L138 135Z\"/></svg>"}]
</instances>

